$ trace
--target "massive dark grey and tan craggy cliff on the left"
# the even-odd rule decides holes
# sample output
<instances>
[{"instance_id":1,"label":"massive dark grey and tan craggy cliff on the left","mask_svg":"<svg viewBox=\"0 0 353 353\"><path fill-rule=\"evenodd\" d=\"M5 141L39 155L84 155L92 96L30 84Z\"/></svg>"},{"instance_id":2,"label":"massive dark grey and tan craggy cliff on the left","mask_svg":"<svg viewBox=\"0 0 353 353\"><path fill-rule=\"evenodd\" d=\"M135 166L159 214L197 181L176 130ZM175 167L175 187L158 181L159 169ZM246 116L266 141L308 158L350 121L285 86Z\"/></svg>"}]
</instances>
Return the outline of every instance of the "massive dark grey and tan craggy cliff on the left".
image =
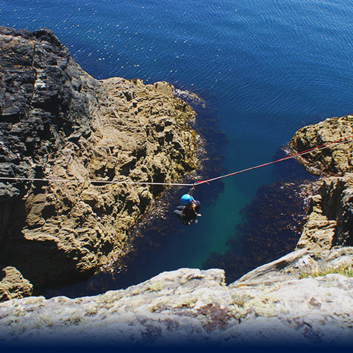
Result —
<instances>
[{"instance_id":1,"label":"massive dark grey and tan craggy cliff on the left","mask_svg":"<svg viewBox=\"0 0 353 353\"><path fill-rule=\"evenodd\" d=\"M87 277L131 251L128 230L195 167L195 113L167 83L95 80L46 29L0 28L0 263L35 287ZM74 181L80 181L76 183Z\"/></svg>"}]
</instances>

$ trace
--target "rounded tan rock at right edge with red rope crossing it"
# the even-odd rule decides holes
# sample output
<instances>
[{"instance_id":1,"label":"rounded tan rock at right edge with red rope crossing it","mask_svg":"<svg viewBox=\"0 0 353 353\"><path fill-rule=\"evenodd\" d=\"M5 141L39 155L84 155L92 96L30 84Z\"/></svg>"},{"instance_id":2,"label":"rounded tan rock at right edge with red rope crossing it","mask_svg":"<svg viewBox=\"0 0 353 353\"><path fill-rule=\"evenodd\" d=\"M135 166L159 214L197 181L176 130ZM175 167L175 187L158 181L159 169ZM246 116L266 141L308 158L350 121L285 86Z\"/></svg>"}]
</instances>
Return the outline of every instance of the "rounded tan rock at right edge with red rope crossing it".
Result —
<instances>
[{"instance_id":1,"label":"rounded tan rock at right edge with red rope crossing it","mask_svg":"<svg viewBox=\"0 0 353 353\"><path fill-rule=\"evenodd\" d=\"M328 145L322 150L313 150L297 160L312 174L342 175L353 172L353 116L329 118L318 124L299 128L289 141L289 147L297 152L309 150L326 143L347 138L347 143Z\"/></svg>"}]
</instances>

